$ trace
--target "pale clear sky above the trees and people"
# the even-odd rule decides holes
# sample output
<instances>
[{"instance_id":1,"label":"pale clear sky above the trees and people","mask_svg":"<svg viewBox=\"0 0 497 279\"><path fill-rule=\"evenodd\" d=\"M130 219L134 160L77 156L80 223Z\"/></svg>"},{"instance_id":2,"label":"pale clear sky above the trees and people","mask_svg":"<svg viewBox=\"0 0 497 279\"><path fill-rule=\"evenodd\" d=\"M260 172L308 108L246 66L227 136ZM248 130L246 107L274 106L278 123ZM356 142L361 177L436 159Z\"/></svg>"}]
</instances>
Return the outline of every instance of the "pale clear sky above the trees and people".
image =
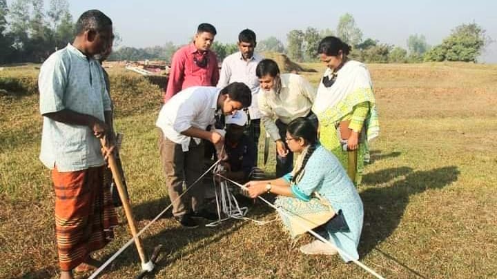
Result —
<instances>
[{"instance_id":1,"label":"pale clear sky above the trees and people","mask_svg":"<svg viewBox=\"0 0 497 279\"><path fill-rule=\"evenodd\" d=\"M13 0L8 1L12 3ZM50 0L45 0L48 4ZM188 43L197 25L208 22L217 29L216 41L235 43L238 33L250 28L257 40L274 36L286 44L286 34L307 27L335 30L341 15L350 13L363 39L378 39L407 48L411 34L422 34L438 45L452 29L475 22L497 39L497 1L270 1L270 0L68 0L75 20L90 9L106 13L119 33L120 45L143 48ZM480 61L497 63L497 42L487 46Z\"/></svg>"}]
</instances>

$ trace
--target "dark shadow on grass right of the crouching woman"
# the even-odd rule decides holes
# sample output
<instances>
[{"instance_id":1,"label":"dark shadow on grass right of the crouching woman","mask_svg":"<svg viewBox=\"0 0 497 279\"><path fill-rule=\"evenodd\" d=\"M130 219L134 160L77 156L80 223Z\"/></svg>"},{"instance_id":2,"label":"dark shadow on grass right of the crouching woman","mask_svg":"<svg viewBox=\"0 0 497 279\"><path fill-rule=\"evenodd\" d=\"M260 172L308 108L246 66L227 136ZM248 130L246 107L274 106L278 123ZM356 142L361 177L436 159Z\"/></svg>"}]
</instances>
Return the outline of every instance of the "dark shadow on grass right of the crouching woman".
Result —
<instances>
[{"instance_id":1,"label":"dark shadow on grass right of the crouching woman","mask_svg":"<svg viewBox=\"0 0 497 279\"><path fill-rule=\"evenodd\" d=\"M369 174L367 179L370 182L373 180L386 181L387 178L395 178L397 175L405 175L405 179L396 181L391 187L367 189L360 194L364 203L364 227L359 245L360 254L362 256L368 254L372 249L376 249L375 247L380 242L391 236L404 215L409 203L409 196L420 194L429 189L442 189L456 181L459 174L456 166L412 173L409 173L409 167L399 167ZM397 262L398 265L409 269L417 276L423 277L392 256L384 254L382 251L380 253Z\"/></svg>"}]
</instances>

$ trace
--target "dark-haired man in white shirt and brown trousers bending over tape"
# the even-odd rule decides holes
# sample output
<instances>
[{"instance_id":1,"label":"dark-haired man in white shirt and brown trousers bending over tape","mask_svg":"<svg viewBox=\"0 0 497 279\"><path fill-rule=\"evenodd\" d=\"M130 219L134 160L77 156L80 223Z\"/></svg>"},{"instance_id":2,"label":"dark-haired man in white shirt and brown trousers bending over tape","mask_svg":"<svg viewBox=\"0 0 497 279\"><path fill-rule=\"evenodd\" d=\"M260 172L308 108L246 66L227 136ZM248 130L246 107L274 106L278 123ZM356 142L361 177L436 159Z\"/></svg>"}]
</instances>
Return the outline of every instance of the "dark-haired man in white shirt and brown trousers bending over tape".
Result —
<instances>
[{"instance_id":1,"label":"dark-haired man in white shirt and brown trousers bending over tape","mask_svg":"<svg viewBox=\"0 0 497 279\"><path fill-rule=\"evenodd\" d=\"M234 114L251 104L252 94L244 83L231 83L223 89L207 86L189 87L178 92L159 112L155 125L159 131L159 152L168 183L169 198L173 203L173 216L184 227L197 227L192 217L215 220L217 215L203 207L202 183L194 185L188 193L183 192L183 183L189 187L204 167L204 143L213 143L218 151L224 145L223 136L214 127L215 116ZM220 154L220 152L218 152Z\"/></svg>"}]
</instances>

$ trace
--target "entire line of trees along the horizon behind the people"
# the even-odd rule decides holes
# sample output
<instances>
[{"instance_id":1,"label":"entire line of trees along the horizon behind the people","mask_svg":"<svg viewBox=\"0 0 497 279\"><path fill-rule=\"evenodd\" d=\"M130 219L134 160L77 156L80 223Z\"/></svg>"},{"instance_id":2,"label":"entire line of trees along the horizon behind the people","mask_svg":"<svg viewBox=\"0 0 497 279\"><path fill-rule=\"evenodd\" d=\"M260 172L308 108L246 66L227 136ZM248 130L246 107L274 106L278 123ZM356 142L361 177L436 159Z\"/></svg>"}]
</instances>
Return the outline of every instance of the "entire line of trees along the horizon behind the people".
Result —
<instances>
[{"instance_id":1,"label":"entire line of trees along the horizon behind the people","mask_svg":"<svg viewBox=\"0 0 497 279\"><path fill-rule=\"evenodd\" d=\"M286 47L276 37L257 42L257 51L287 54L298 62L318 61L317 48L320 40L335 35L352 46L351 57L366 63L418 63L422 61L472 61L476 62L485 45L491 42L485 30L476 23L458 25L440 45L431 47L422 34L411 34L407 49L381 43L376 39L363 38L362 30L351 14L338 20L335 30L309 27L291 30L286 34ZM69 12L67 0L50 0L47 9L43 0L16 0L8 6L0 0L0 64L39 63L52 52L64 48L75 37L75 22ZM117 36L117 43L119 36ZM179 48L172 42L149 48L116 48L109 60L170 61ZM215 42L212 50L220 61L237 51L236 43Z\"/></svg>"}]
</instances>

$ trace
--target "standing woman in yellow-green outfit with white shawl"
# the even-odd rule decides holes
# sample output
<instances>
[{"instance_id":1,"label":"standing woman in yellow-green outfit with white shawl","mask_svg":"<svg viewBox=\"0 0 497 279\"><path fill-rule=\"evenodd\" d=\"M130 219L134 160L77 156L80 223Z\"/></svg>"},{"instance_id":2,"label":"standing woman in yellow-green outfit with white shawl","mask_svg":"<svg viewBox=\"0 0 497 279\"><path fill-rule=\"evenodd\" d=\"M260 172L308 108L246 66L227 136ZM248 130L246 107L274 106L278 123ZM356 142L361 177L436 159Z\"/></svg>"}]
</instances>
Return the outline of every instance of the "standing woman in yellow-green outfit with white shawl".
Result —
<instances>
[{"instance_id":1,"label":"standing woman in yellow-green outfit with white shawl","mask_svg":"<svg viewBox=\"0 0 497 279\"><path fill-rule=\"evenodd\" d=\"M378 113L366 65L347 57L351 47L337 37L322 39L318 54L327 65L313 112L320 142L338 157L355 185L364 169L367 141L378 136Z\"/></svg>"}]
</instances>

